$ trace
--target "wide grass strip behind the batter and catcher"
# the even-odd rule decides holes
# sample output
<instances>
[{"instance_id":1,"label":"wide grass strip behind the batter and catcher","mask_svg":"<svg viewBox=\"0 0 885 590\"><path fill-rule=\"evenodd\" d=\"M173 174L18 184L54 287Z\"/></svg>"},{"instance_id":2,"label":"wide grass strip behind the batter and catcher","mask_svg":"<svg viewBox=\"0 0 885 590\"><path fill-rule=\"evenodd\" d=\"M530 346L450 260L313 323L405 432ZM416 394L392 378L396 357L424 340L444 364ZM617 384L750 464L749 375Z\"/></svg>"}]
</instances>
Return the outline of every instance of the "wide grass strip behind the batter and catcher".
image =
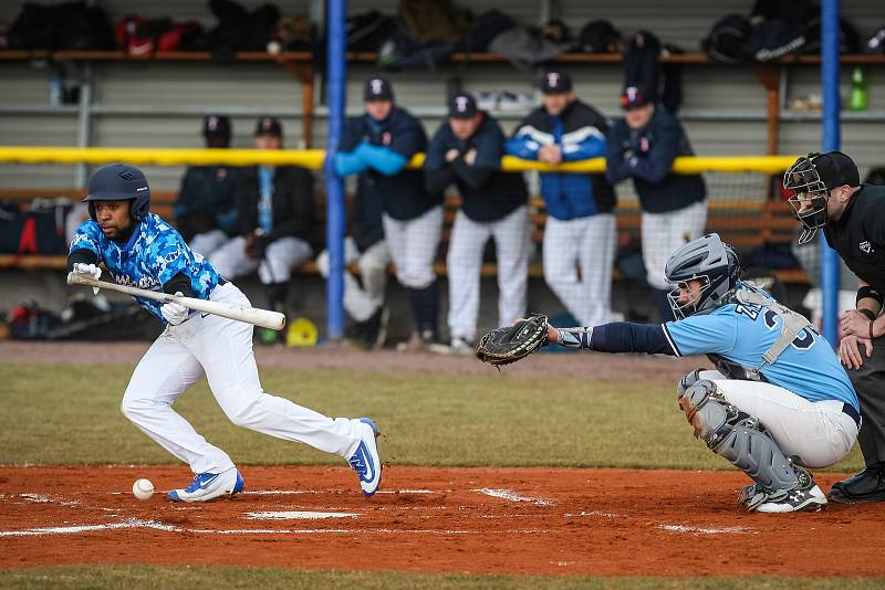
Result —
<instances>
[{"instance_id":1,"label":"wide grass strip behind the batter and catcher","mask_svg":"<svg viewBox=\"0 0 885 590\"><path fill-rule=\"evenodd\" d=\"M175 463L119 413L131 371L0 365L0 464ZM329 415L372 415L394 464L727 467L691 436L670 382L284 369L262 382ZM241 464L339 463L233 426L205 382L176 410ZM862 466L855 449L833 468Z\"/></svg>"}]
</instances>

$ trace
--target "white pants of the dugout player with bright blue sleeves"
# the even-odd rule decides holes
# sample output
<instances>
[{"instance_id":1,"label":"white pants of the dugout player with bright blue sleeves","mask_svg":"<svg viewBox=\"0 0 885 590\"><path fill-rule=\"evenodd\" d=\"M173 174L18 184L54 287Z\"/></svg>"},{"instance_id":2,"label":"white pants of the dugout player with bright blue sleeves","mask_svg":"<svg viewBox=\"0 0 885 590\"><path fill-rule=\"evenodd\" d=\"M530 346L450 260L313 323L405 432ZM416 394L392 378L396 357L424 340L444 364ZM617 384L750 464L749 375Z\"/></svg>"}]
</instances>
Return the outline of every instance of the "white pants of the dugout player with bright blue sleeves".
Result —
<instances>
[{"instance_id":1,"label":"white pants of the dugout player with bright blue sleeves","mask_svg":"<svg viewBox=\"0 0 885 590\"><path fill-rule=\"evenodd\" d=\"M442 206L408 221L383 217L384 238L404 287L426 288L436 281L434 260L442 235Z\"/></svg>"}]
</instances>

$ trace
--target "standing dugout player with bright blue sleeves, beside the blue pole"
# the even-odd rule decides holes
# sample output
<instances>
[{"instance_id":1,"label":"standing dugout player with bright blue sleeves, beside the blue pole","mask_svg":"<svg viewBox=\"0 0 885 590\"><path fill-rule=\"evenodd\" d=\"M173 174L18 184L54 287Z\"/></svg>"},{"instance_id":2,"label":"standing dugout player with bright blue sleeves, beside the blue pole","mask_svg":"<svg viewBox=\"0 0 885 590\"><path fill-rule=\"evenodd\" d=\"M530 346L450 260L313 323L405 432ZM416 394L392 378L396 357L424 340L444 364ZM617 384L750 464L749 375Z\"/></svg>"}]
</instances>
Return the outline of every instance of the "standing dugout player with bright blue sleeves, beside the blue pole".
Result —
<instances>
[{"instance_id":1,"label":"standing dugout player with bright blue sleeves, beside the blue pole","mask_svg":"<svg viewBox=\"0 0 885 590\"><path fill-rule=\"evenodd\" d=\"M434 260L442 233L442 193L424 186L420 170L408 170L412 157L427 147L418 119L394 104L391 83L366 81L365 114L347 119L335 170L358 175L357 194L384 203L384 235L405 287L415 333L403 347L424 349L439 337L439 294Z\"/></svg>"}]
</instances>

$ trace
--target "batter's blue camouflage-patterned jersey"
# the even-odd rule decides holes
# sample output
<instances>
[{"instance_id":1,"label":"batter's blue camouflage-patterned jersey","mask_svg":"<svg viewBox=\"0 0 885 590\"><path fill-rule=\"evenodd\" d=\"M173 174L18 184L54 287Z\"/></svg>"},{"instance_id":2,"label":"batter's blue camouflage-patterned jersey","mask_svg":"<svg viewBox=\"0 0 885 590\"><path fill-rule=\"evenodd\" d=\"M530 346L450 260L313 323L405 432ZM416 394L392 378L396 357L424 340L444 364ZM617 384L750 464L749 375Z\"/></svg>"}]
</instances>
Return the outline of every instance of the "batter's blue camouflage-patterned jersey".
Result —
<instances>
[{"instance_id":1,"label":"batter's blue camouflage-patterned jersey","mask_svg":"<svg viewBox=\"0 0 885 590\"><path fill-rule=\"evenodd\" d=\"M71 252L74 250L88 250L97 255L121 285L162 293L165 283L184 273L190 277L194 296L208 299L219 281L209 262L191 252L181 235L154 213L138 223L125 244L105 238L95 221L84 221L71 242ZM144 297L135 297L135 301L166 322L159 312L162 303Z\"/></svg>"}]
</instances>

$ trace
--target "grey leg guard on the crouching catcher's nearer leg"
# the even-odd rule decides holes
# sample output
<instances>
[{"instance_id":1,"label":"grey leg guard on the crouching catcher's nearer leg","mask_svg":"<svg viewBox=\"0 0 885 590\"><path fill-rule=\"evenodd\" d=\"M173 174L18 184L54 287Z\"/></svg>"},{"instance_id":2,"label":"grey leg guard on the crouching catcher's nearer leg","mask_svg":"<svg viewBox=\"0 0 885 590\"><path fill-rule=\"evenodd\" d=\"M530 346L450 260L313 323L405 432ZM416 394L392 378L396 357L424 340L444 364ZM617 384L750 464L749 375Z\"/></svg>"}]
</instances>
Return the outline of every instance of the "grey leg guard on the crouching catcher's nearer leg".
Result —
<instances>
[{"instance_id":1,"label":"grey leg guard on the crouching catcher's nearer leg","mask_svg":"<svg viewBox=\"0 0 885 590\"><path fill-rule=\"evenodd\" d=\"M683 381L690 381L691 375ZM714 453L727 459L756 482L741 492L739 502L752 510L763 502L809 485L811 475L794 466L759 420L729 403L716 383L695 379L683 388L683 381L679 408L695 428L695 438L704 439Z\"/></svg>"}]
</instances>

